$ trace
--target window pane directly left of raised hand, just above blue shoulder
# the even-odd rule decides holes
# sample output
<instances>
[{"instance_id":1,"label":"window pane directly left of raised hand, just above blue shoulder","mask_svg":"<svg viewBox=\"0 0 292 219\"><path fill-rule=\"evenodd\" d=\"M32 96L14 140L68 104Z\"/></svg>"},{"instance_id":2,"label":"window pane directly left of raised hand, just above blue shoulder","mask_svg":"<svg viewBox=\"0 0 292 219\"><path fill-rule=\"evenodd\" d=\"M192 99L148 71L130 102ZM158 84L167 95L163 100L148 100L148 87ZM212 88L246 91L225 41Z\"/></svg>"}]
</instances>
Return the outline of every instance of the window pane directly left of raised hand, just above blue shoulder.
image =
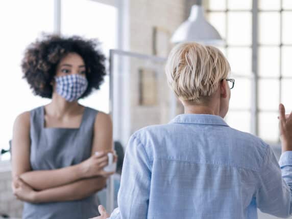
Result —
<instances>
[{"instance_id":1,"label":"window pane directly left of raised hand, just above blue shoulder","mask_svg":"<svg viewBox=\"0 0 292 219\"><path fill-rule=\"evenodd\" d=\"M259 113L259 137L268 143L278 142L278 113Z\"/></svg>"}]
</instances>

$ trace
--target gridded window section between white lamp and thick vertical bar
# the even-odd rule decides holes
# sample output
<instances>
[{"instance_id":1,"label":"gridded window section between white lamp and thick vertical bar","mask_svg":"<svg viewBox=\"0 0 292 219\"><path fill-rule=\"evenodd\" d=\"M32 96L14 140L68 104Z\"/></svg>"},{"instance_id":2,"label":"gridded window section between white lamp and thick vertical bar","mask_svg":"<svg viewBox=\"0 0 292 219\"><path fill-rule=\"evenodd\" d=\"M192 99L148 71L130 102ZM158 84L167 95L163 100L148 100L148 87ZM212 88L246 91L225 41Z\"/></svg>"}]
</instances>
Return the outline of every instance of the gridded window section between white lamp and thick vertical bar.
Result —
<instances>
[{"instance_id":1,"label":"gridded window section between white lamp and thick vertical bar","mask_svg":"<svg viewBox=\"0 0 292 219\"><path fill-rule=\"evenodd\" d=\"M231 78L235 86L227 122L245 132L251 132L252 118L252 1L210 0L207 18L226 40L219 47L231 65ZM238 25L240 21L240 25Z\"/></svg>"}]
</instances>

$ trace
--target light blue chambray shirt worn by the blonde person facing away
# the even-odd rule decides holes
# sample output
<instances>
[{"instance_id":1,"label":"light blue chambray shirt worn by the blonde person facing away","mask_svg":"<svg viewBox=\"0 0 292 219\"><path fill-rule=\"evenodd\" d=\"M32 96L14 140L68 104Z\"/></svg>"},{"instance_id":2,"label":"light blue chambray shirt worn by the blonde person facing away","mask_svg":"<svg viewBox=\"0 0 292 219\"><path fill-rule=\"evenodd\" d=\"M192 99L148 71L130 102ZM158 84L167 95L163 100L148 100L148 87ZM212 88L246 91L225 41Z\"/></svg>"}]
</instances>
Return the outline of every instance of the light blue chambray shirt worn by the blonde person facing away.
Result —
<instances>
[{"instance_id":1,"label":"light blue chambray shirt worn by the blonde person facing away","mask_svg":"<svg viewBox=\"0 0 292 219\"><path fill-rule=\"evenodd\" d=\"M121 174L123 219L257 218L291 214L292 151L229 127L219 116L179 115L131 137Z\"/></svg>"}]
</instances>

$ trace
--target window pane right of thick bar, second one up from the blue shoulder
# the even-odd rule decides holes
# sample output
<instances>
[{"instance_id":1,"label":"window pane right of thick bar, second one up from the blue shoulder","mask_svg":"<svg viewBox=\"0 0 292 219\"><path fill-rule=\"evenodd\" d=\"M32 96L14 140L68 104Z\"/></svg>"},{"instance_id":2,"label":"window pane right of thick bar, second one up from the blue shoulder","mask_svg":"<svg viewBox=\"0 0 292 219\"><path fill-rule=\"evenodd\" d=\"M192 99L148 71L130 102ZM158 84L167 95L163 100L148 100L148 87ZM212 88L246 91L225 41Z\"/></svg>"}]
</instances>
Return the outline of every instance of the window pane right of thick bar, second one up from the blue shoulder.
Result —
<instances>
[{"instance_id":1,"label":"window pane right of thick bar, second one up from the blue shoulder","mask_svg":"<svg viewBox=\"0 0 292 219\"><path fill-rule=\"evenodd\" d=\"M278 110L279 104L279 80L259 79L259 109Z\"/></svg>"}]
</instances>

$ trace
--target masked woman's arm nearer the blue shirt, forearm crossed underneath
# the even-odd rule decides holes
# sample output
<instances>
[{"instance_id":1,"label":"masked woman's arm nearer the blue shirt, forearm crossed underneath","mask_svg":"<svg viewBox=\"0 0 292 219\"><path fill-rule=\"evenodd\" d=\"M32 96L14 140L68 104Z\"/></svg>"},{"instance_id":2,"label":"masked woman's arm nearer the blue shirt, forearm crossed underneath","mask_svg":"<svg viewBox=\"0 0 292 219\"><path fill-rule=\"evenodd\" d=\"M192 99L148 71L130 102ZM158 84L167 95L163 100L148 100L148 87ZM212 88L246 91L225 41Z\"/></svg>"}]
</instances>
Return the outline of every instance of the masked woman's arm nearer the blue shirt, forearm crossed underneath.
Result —
<instances>
[{"instance_id":1,"label":"masked woman's arm nearer the blue shirt, forearm crossed underneath","mask_svg":"<svg viewBox=\"0 0 292 219\"><path fill-rule=\"evenodd\" d=\"M100 113L96 117L94 125L94 139L92 145L92 154L95 151L111 151L112 150L112 123L108 115ZM106 163L103 164L107 165ZM112 173L104 173L109 176ZM20 183L21 184L21 183ZM15 195L23 201L28 202L52 202L52 201L72 201L86 198L90 194L101 190L106 185L106 178L98 177L84 179L68 185L56 188L45 189L43 191L34 192L29 185L14 187Z\"/></svg>"}]
</instances>

